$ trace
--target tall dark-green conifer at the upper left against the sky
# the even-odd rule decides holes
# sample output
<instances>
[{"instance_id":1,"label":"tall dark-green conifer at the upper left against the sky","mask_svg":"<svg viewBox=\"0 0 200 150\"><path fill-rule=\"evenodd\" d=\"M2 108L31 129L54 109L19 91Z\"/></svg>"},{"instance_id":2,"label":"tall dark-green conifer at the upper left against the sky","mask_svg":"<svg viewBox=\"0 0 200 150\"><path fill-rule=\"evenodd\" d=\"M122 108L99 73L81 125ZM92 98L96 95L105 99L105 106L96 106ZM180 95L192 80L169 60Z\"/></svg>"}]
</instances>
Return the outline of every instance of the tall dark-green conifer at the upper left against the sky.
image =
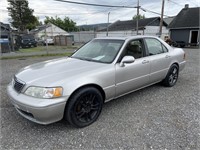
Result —
<instances>
[{"instance_id":1,"label":"tall dark-green conifer at the upper left against the sky","mask_svg":"<svg viewBox=\"0 0 200 150\"><path fill-rule=\"evenodd\" d=\"M38 18L33 15L34 10L30 9L27 0L7 0L9 7L7 7L9 16L11 16L10 23L19 31L26 29L33 29L39 25Z\"/></svg>"}]
</instances>

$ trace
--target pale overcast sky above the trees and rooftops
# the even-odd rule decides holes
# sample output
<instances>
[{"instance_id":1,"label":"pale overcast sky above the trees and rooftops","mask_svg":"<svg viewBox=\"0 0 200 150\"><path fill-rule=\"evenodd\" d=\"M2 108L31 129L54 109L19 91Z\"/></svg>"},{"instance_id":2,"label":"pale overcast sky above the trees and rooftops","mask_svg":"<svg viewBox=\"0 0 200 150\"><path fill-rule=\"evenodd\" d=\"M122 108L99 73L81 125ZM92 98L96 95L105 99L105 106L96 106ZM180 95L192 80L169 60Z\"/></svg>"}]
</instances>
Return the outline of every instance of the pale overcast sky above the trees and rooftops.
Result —
<instances>
[{"instance_id":1,"label":"pale overcast sky above the trees and rooftops","mask_svg":"<svg viewBox=\"0 0 200 150\"><path fill-rule=\"evenodd\" d=\"M105 8L84 6L70 3L63 3L54 0L28 0L29 7L34 9L34 15L43 21L45 16L56 15L63 18L69 17L77 23L82 24L96 24L106 23L108 20L108 13L110 12L110 22L117 20L130 20L136 15L136 9L134 8ZM137 0L69 0L83 3L104 4L104 5L120 5L120 6L137 6ZM144 9L161 12L162 0L139 0L140 6ZM3 23L9 23L9 16L7 12L8 3L7 0L0 0L0 21ZM179 11L189 4L189 7L200 7L200 0L165 0L164 14L166 16L175 16ZM140 10L140 14L148 17L157 17L158 14L151 12L144 12Z\"/></svg>"}]
</instances>

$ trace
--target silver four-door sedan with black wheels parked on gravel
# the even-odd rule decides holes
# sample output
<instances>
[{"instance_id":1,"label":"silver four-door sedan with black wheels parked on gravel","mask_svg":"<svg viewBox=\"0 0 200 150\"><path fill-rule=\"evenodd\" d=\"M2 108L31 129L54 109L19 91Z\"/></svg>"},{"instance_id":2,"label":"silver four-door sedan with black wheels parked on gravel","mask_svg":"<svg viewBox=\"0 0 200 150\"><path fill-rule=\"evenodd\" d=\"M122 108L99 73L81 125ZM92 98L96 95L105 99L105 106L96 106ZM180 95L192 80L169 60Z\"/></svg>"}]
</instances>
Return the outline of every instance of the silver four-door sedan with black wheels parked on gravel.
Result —
<instances>
[{"instance_id":1,"label":"silver four-door sedan with black wheels parked on gravel","mask_svg":"<svg viewBox=\"0 0 200 150\"><path fill-rule=\"evenodd\" d=\"M71 57L21 69L7 87L16 110L40 124L90 125L105 102L161 82L172 87L185 53L157 37L96 38Z\"/></svg>"}]
</instances>

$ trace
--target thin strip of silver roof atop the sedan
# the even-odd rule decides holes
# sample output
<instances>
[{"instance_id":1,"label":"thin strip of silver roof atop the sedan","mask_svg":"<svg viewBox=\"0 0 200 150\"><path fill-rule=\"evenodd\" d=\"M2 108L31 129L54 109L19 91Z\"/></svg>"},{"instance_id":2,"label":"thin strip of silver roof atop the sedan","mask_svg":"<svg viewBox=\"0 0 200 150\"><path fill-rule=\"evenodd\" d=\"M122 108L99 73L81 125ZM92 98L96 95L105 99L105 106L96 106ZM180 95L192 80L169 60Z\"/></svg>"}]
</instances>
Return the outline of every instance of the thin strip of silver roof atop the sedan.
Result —
<instances>
[{"instance_id":1,"label":"thin strip of silver roof atop the sedan","mask_svg":"<svg viewBox=\"0 0 200 150\"><path fill-rule=\"evenodd\" d=\"M156 36L135 35L135 36L124 36L124 37L98 37L95 39L129 40L129 39L148 38L148 37L158 38Z\"/></svg>"}]
</instances>

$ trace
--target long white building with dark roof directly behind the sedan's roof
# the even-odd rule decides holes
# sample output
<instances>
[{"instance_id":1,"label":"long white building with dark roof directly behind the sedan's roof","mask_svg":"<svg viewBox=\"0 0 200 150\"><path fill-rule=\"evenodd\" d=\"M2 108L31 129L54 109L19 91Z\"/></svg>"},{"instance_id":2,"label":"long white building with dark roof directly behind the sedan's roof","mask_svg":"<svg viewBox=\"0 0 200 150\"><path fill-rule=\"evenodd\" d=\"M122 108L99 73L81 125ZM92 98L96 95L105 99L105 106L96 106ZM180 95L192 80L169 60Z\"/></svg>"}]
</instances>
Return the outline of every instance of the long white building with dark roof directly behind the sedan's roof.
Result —
<instances>
[{"instance_id":1,"label":"long white building with dark roof directly behind the sedan's roof","mask_svg":"<svg viewBox=\"0 0 200 150\"><path fill-rule=\"evenodd\" d=\"M160 17L140 19L138 21L138 29L139 35L158 36ZM167 36L168 33L167 24L163 21L162 36ZM136 20L116 21L108 27L108 36L131 36L136 34ZM96 36L107 36L107 29L99 30Z\"/></svg>"}]
</instances>

